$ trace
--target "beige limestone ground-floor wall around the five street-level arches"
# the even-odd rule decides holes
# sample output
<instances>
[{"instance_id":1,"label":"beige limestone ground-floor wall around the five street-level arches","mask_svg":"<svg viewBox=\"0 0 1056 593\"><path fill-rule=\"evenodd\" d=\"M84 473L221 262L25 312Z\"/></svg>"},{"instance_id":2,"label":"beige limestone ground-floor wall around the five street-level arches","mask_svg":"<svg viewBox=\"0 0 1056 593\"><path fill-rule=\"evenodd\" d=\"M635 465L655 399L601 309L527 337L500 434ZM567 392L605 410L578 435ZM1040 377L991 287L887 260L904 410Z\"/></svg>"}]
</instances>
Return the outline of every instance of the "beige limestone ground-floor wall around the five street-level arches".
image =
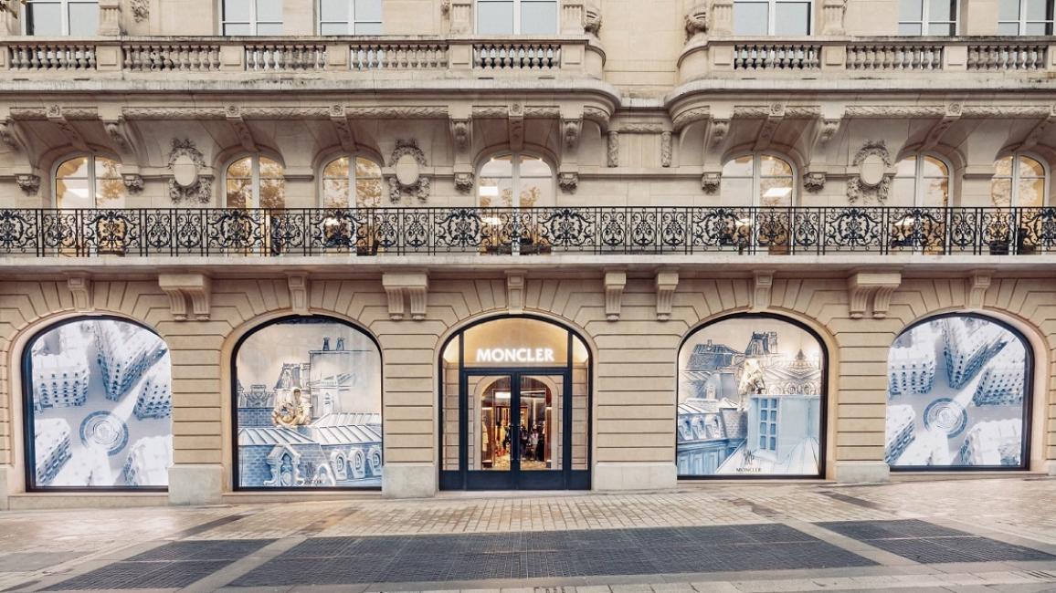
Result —
<instances>
[{"instance_id":1,"label":"beige limestone ground-floor wall around the five street-level arches","mask_svg":"<svg viewBox=\"0 0 1056 593\"><path fill-rule=\"evenodd\" d=\"M698 272L699 273L699 272ZM694 327L753 306L751 279L704 278L682 270L670 321L658 321L652 275L631 273L619 321L606 321L600 274L529 275L524 310L577 328L593 359L592 452L596 489L674 485L676 360ZM213 492L173 489L175 501L218 500L230 487L229 357L257 325L289 314L285 279L213 279L209 321L176 322L156 282L92 283L96 313L127 317L154 328L172 355L174 462L172 478L211 476ZM965 310L963 278L906 279L886 319L851 319L846 278L774 279L767 311L813 328L829 351L826 476L878 479L886 466L886 362L891 342L908 325ZM507 311L501 278L434 278L422 321L393 321L376 279L313 280L309 308L356 323L381 345L386 494L435 490L439 345L466 323ZM79 314L64 281L0 282L0 466L13 494L22 491L21 377L27 340L49 324ZM995 279L980 312L1021 328L1035 347L1035 431L1031 467L1056 459L1056 281ZM390 472L392 470L392 472ZM197 473L195 473L197 472ZM208 482L206 482L208 483ZM202 487L200 484L195 487ZM181 490L183 489L183 490ZM177 492L178 491L178 492Z\"/></svg>"}]
</instances>

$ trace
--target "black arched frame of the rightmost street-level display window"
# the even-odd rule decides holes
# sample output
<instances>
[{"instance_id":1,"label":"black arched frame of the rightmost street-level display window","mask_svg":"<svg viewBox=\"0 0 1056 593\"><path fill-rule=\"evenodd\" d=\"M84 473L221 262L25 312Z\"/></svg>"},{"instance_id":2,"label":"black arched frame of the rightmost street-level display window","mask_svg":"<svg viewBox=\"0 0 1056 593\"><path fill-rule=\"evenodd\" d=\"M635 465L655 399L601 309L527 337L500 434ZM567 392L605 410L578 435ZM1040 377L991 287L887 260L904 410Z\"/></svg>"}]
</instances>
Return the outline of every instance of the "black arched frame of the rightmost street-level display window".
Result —
<instances>
[{"instance_id":1,"label":"black arched frame of the rightmost street-level display window","mask_svg":"<svg viewBox=\"0 0 1056 593\"><path fill-rule=\"evenodd\" d=\"M988 322L988 323L993 323L993 324L997 325L998 327L1004 329L1005 331L1007 331L1008 333L1011 333L1015 338L1017 338L1022 343L1022 345L1023 345L1023 349L1024 349L1024 352L1025 352L1025 361L1024 361L1024 370L1023 370L1023 372L1024 372L1024 377L1023 377L1023 416L1022 416L1022 429L1021 429L1021 439L1022 439L1021 447L1022 448L1020 451L1020 464L1019 465L1000 465L1000 466L993 466L993 465L985 465L985 466L984 465L980 465L980 466L973 466L973 465L894 465L894 464L889 464L890 465L890 470L892 472L909 472L909 473L911 473L911 472L992 472L992 471L995 471L995 470L997 470L997 471L1016 472L1016 471L1026 471L1026 470L1029 470L1030 468L1030 464L1031 464L1031 445L1032 445L1032 438L1033 438L1032 437L1032 428L1033 428L1033 419L1034 419L1034 394L1035 394L1035 388L1034 387L1035 387L1035 380L1036 380L1035 374L1037 372L1035 370L1035 356L1036 356L1036 352L1035 352L1034 345L1026 338L1026 334L1024 334L1022 331L1019 330L1019 328L1015 327L1014 325L1012 325L1012 324L1010 324L1010 323L1007 323L1007 322L1005 322L1005 321L1003 321L1001 319L998 319L998 318L995 318L995 317L992 317L992 315L988 315L988 314L976 313L976 312L972 312L972 311L950 311L950 312L940 313L940 314L930 315L930 317L926 317L926 318L917 320L916 322L913 322L910 325L908 325L905 328L903 328L902 331L900 331L899 334L895 337L894 341L898 341L903 336L905 336L909 331L912 331L913 329L916 329L917 327L919 327L921 325L928 324L928 323L936 322L936 321L941 321L941 320L944 320L944 319L950 319L950 318L973 318L973 319L982 320L982 321L985 321L985 322ZM894 342L892 341L891 346L889 346L889 351L890 351L890 348L893 348L893 345L894 345ZM890 353L888 353L888 356L890 356ZM885 371L885 375L888 377L888 381L890 381L891 380L891 374ZM890 388L890 384L888 385L888 389L889 388ZM885 403L885 408L888 405L890 405L890 396L887 396L887 397L888 397L888 402ZM886 413L885 413L885 417L886 417ZM885 449L886 449L886 447L885 447ZM886 451L885 451L885 453L886 453Z\"/></svg>"}]
</instances>

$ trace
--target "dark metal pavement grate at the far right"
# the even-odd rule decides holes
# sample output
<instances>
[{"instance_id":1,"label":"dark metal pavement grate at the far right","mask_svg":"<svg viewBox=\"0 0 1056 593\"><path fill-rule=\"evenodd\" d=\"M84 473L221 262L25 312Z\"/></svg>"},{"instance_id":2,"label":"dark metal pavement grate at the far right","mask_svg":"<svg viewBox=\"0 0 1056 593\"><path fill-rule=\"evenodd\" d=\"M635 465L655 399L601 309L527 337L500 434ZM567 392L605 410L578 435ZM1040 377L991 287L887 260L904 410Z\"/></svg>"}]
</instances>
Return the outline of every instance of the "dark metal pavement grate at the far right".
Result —
<instances>
[{"instance_id":1,"label":"dark metal pavement grate at the far right","mask_svg":"<svg viewBox=\"0 0 1056 593\"><path fill-rule=\"evenodd\" d=\"M923 565L1054 560L1056 556L996 539L921 521L835 521L818 523L841 535Z\"/></svg>"}]
</instances>

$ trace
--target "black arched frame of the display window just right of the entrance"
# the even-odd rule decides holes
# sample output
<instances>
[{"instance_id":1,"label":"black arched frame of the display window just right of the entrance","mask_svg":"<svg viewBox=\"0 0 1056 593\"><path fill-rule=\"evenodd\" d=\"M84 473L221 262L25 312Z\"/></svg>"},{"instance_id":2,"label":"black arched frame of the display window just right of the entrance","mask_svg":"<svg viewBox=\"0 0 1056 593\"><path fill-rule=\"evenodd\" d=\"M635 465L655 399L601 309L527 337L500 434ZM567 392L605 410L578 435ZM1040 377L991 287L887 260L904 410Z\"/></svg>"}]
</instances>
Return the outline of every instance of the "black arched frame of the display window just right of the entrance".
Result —
<instances>
[{"instance_id":1,"label":"black arched frame of the display window just right of the entrance","mask_svg":"<svg viewBox=\"0 0 1056 593\"><path fill-rule=\"evenodd\" d=\"M789 317L781 315L781 314L776 314L776 313L732 313L732 314L723 315L723 317L720 317L720 318L717 318L717 319L713 319L713 320L710 320L710 321L708 321L705 323L699 324L696 327L692 328L690 331L686 332L685 337L682 338L682 341L679 343L678 349L676 350L676 353L675 353L675 356L676 356L676 359L675 359L676 360L676 368L678 368L678 371L681 372L682 349L685 348L690 344L690 342L693 340L694 336L696 336L697 333L699 333L700 331L703 331L704 329L706 329L709 327L712 327L713 325L718 325L718 324L721 324L722 322L737 321L737 320L744 320L744 319L769 320L769 321L775 321L775 322L786 323L786 324L789 324L789 325L791 325L793 327L796 327L796 328L803 330L804 332L807 333L807 336L810 336L811 338L814 339L815 342L817 342L817 346L818 346L818 350L819 350L819 356L821 356L821 361L819 361L819 363L821 363L821 385L818 386L819 387L818 395L819 395L821 400L819 400L819 404L818 404L818 423L819 424L818 424L818 432L817 432L817 474L811 474L811 475L784 475L784 474L779 474L779 475L775 475L775 474L766 474L766 475L756 475L756 474L744 474L744 475L740 475L740 474L738 474L738 475L713 474L713 475L704 475L704 474L701 474L700 471L696 471L694 475L682 475L681 474L681 470L682 468L679 467L678 468L679 470L678 479L679 480L712 480L712 479L727 480L727 479L740 479L740 478L743 478L743 479L817 479L817 478L824 478L825 477L826 462L827 462L826 461L826 459L827 459L827 455L826 454L827 454L827 447L828 447L828 433L829 433L829 417L828 417L829 416L829 414L828 414L828 412L829 412L829 372L830 372L830 370L829 370L829 347L825 343L825 340L822 339L822 336L817 331L815 331L812 327L810 327L809 325L807 325L807 324L805 324L805 323L803 323L803 322L800 322L800 321L798 321L796 319L789 318ZM676 401L676 407L677 407L677 404L679 402L681 402L681 394L679 391L682 389L682 381L680 381L680 380L676 381L675 388L676 388L675 401ZM677 425L677 422L678 422L678 416L677 416L677 410L676 410L676 425ZM747 439L747 436L746 436L746 439ZM678 452L678 437L677 437L677 435L676 435L675 441L676 441L675 442L675 451L676 451L676 464L677 464L677 459L678 459L678 457L677 457L677 455L678 455L678 453L677 453Z\"/></svg>"}]
</instances>

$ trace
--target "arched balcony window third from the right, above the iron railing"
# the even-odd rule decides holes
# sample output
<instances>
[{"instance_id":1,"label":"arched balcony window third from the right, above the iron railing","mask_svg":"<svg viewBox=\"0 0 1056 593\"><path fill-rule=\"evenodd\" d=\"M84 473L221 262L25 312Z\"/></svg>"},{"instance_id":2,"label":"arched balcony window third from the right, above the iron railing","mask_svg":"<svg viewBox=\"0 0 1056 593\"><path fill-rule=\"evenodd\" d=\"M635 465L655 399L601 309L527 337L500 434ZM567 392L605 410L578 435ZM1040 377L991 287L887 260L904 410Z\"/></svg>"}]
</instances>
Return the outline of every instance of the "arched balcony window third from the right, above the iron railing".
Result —
<instances>
[{"instance_id":1,"label":"arched balcony window third from the right, above the iron railing","mask_svg":"<svg viewBox=\"0 0 1056 593\"><path fill-rule=\"evenodd\" d=\"M792 165L771 154L748 154L722 166L722 193L750 206L792 206L795 174ZM744 204L751 196L752 202Z\"/></svg>"}]
</instances>

